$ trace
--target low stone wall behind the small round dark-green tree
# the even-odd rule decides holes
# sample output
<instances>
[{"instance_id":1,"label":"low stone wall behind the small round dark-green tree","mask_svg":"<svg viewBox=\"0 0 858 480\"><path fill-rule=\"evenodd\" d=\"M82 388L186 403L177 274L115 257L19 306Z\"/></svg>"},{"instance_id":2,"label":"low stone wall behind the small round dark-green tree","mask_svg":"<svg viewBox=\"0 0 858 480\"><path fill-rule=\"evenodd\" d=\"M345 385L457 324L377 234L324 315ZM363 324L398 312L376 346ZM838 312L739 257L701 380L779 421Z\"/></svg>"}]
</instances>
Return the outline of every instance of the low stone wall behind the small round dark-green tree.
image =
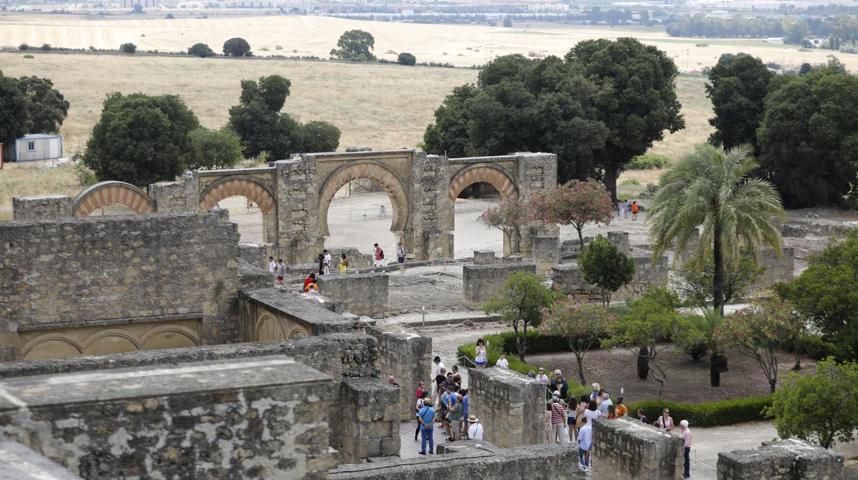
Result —
<instances>
[{"instance_id":1,"label":"low stone wall behind the small round dark-green tree","mask_svg":"<svg viewBox=\"0 0 858 480\"><path fill-rule=\"evenodd\" d=\"M640 296L648 287L661 286L668 282L670 266L668 257L662 255L656 262L652 261L652 253L634 251L631 258L635 261L635 275L631 283L623 285L611 298L619 300L625 295ZM572 295L576 300L599 301L601 290L584 281L583 273L577 262L559 264L551 270L552 289L566 295Z\"/></svg>"}]
</instances>

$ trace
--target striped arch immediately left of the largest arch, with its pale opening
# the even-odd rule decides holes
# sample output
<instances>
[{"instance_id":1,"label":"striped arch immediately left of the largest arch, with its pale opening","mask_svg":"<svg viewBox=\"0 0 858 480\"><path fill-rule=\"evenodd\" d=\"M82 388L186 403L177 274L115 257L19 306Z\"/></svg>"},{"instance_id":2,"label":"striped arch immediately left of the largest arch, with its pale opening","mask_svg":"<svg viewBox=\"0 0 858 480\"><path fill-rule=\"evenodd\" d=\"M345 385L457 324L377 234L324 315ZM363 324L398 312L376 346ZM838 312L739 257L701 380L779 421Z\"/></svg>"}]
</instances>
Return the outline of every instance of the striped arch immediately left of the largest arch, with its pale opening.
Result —
<instances>
[{"instance_id":1,"label":"striped arch immediately left of the largest arch, with its pale opening","mask_svg":"<svg viewBox=\"0 0 858 480\"><path fill-rule=\"evenodd\" d=\"M250 175L217 179L200 193L200 208L230 211L242 241L277 241L277 202L269 185ZM261 217L261 222L260 222Z\"/></svg>"}]
</instances>

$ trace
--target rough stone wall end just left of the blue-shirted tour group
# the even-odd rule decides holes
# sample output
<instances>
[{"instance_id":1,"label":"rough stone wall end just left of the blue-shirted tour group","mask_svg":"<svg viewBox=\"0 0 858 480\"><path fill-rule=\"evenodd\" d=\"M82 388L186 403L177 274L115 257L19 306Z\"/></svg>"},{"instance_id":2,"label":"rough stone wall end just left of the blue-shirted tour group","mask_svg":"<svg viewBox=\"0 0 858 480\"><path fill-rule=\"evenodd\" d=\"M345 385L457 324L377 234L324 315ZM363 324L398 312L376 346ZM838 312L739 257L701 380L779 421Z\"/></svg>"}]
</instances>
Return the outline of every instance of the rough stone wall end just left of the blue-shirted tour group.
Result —
<instances>
[{"instance_id":1,"label":"rough stone wall end just left of the blue-shirted tour group","mask_svg":"<svg viewBox=\"0 0 858 480\"><path fill-rule=\"evenodd\" d=\"M390 375L402 387L400 397L400 415L410 418L414 414L417 391L420 380L430 385L432 374L432 338L420 337L414 333L396 333L381 331L367 326L366 334L378 342L378 368L386 381Z\"/></svg>"}]
</instances>

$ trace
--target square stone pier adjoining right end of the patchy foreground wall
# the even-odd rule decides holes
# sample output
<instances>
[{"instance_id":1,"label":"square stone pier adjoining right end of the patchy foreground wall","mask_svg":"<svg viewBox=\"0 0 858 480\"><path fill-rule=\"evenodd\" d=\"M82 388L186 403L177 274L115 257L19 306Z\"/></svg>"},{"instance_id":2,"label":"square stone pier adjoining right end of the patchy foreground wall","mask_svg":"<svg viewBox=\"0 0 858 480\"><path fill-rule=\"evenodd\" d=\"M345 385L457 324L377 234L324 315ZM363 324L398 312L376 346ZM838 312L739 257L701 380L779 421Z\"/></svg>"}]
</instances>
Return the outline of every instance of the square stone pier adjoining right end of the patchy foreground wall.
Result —
<instances>
[{"instance_id":1,"label":"square stone pier adjoining right end of the patchy foreground wall","mask_svg":"<svg viewBox=\"0 0 858 480\"><path fill-rule=\"evenodd\" d=\"M399 455L400 397L400 389L386 380L342 381L341 462Z\"/></svg>"}]
</instances>

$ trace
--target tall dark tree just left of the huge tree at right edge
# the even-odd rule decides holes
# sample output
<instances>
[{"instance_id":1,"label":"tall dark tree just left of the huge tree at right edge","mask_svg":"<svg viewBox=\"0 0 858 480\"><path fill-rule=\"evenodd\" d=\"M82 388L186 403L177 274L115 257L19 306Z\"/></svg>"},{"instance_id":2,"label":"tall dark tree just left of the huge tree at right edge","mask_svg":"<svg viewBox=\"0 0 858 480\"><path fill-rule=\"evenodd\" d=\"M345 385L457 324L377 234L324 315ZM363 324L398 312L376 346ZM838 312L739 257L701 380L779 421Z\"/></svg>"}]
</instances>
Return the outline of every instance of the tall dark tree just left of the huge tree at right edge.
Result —
<instances>
[{"instance_id":1,"label":"tall dark tree just left of the huge tree at right edge","mask_svg":"<svg viewBox=\"0 0 858 480\"><path fill-rule=\"evenodd\" d=\"M758 153L757 127L763 120L765 94L772 72L759 58L746 53L722 54L709 70L706 96L712 100L715 117L709 119L715 131L709 141L732 149L742 143Z\"/></svg>"}]
</instances>

